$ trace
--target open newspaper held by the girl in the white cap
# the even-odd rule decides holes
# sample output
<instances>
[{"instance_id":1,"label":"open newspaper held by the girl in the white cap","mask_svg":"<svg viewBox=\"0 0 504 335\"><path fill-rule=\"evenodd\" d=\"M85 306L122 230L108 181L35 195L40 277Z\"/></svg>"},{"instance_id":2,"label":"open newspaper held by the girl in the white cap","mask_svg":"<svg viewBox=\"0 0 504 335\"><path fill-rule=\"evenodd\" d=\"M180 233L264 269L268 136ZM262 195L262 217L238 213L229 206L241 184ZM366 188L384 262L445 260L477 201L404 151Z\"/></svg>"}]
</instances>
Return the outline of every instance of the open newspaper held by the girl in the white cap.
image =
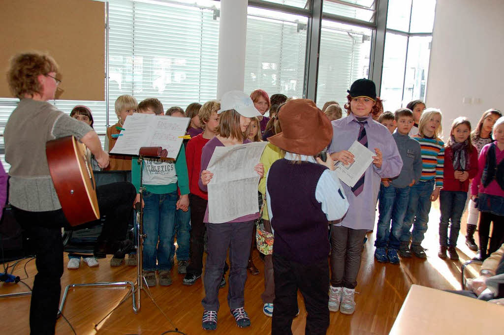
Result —
<instances>
[{"instance_id":1,"label":"open newspaper held by the girl in the white cap","mask_svg":"<svg viewBox=\"0 0 504 335\"><path fill-rule=\"evenodd\" d=\"M259 163L268 142L216 147L207 170L214 175L208 183L208 220L224 223L259 212Z\"/></svg>"}]
</instances>

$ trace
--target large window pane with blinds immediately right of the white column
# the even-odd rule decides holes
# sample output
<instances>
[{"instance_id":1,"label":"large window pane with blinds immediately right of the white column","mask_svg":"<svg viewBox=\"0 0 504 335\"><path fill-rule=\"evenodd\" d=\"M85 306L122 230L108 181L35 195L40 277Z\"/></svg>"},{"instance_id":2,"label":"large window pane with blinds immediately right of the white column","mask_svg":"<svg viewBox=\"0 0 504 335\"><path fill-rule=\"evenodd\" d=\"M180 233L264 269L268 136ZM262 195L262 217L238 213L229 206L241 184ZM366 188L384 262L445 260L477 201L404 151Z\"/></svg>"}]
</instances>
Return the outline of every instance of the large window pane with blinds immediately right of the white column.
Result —
<instances>
[{"instance_id":1,"label":"large window pane with blinds immediately right of the white column","mask_svg":"<svg viewBox=\"0 0 504 335\"><path fill-rule=\"evenodd\" d=\"M248 8L245 93L263 89L270 96L302 97L307 21L303 16Z\"/></svg>"}]
</instances>

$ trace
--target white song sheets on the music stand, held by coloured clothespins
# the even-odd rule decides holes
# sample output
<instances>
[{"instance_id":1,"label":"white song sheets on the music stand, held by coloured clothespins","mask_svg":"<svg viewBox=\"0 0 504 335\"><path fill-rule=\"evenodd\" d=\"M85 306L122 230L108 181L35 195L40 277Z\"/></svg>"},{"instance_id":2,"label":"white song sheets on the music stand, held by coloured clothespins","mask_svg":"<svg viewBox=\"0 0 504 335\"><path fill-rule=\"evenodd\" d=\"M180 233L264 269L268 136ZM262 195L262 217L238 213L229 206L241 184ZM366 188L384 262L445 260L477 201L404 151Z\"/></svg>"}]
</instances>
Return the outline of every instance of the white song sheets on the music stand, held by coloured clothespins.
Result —
<instances>
[{"instance_id":1,"label":"white song sheets on the music stand, held by coloured clothespins","mask_svg":"<svg viewBox=\"0 0 504 335\"><path fill-rule=\"evenodd\" d=\"M141 147L162 147L169 158L176 158L182 144L179 137L185 134L189 121L187 117L134 113L124 121L125 130L110 153L138 155Z\"/></svg>"}]
</instances>

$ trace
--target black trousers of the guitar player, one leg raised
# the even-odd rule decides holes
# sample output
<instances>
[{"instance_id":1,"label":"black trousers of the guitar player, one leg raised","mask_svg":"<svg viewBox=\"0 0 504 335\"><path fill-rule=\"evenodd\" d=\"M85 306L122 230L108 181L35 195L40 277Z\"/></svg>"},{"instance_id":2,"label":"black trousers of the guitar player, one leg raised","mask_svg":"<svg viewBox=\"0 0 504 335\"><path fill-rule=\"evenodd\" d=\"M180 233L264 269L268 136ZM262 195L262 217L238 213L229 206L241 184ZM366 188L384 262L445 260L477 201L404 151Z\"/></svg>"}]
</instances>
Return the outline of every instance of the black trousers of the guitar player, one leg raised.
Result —
<instances>
[{"instance_id":1,"label":"black trousers of the guitar player, one leg raised","mask_svg":"<svg viewBox=\"0 0 504 335\"><path fill-rule=\"evenodd\" d=\"M117 182L98 186L98 207L107 216L101 240L124 240L128 217L132 215L137 191L130 182ZM37 274L33 282L30 304L30 329L32 335L52 335L56 325L60 279L63 275L63 241L61 227L69 223L62 210L28 212L18 208L14 215L26 230L35 250Z\"/></svg>"}]
</instances>

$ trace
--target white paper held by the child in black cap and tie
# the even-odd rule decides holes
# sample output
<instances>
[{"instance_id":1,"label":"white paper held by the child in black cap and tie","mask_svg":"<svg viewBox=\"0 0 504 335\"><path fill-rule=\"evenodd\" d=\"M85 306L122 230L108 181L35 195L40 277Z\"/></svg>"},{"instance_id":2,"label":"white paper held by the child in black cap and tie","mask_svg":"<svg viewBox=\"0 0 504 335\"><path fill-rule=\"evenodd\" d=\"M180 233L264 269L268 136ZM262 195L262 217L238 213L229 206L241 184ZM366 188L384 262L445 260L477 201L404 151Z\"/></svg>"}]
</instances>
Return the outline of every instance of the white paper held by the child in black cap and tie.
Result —
<instances>
[{"instance_id":1,"label":"white paper held by the child in black cap and tie","mask_svg":"<svg viewBox=\"0 0 504 335\"><path fill-rule=\"evenodd\" d=\"M376 153L364 147L359 142L352 143L348 151L354 155L354 161L350 164L343 164L342 162L336 163L336 173L341 181L350 187L362 177L369 164L372 163L372 157Z\"/></svg>"}]
</instances>

